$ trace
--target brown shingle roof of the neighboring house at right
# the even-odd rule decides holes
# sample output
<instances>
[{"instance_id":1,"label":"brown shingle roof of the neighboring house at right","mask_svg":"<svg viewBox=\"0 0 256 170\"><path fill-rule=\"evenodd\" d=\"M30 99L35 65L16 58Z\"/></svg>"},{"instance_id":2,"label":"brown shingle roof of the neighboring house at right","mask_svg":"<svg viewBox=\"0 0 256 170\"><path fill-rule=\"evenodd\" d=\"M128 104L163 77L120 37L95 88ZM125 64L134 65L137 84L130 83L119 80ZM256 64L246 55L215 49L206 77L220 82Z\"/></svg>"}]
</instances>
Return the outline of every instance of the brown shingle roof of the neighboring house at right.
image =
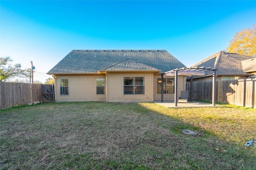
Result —
<instances>
[{"instance_id":1,"label":"brown shingle roof of the neighboring house at right","mask_svg":"<svg viewBox=\"0 0 256 170\"><path fill-rule=\"evenodd\" d=\"M194 66L218 68L216 70L217 75L242 76L248 75L246 72L244 72L242 61L254 58L255 57L252 56L220 51L212 55L211 57L208 57L207 59L201 61L200 63L195 64ZM207 71L206 75L207 74L212 74L212 71Z\"/></svg>"}]
</instances>

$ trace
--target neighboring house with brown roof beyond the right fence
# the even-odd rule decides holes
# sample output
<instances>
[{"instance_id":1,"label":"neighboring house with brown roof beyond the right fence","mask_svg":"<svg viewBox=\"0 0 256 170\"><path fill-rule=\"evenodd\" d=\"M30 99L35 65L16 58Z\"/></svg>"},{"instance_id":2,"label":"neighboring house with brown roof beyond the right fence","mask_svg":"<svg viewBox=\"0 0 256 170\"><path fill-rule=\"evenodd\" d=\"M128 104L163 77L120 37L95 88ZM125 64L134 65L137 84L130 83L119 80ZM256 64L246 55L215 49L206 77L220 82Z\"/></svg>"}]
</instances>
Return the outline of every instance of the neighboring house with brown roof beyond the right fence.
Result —
<instances>
[{"instance_id":1,"label":"neighboring house with brown roof beyond the right fence","mask_svg":"<svg viewBox=\"0 0 256 170\"><path fill-rule=\"evenodd\" d=\"M256 76L255 57L226 51L220 51L192 67L196 66L218 68L216 80L235 80ZM207 71L204 76L193 76L193 81L212 81L212 71Z\"/></svg>"}]
</instances>

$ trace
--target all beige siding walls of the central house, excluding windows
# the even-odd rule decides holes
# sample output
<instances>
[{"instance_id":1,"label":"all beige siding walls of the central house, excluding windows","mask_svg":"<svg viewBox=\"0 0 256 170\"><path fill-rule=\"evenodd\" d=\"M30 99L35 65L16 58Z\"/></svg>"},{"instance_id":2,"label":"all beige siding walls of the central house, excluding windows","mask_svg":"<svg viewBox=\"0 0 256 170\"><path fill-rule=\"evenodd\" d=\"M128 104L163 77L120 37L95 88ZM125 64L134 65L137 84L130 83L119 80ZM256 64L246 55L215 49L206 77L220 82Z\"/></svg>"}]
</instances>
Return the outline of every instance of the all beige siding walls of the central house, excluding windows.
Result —
<instances>
[{"instance_id":1,"label":"all beige siding walls of the central house, excluding windows","mask_svg":"<svg viewBox=\"0 0 256 170\"><path fill-rule=\"evenodd\" d=\"M108 102L152 102L161 100L161 94L156 94L156 81L157 78L161 78L160 74L152 74L150 72L107 72L107 78L105 74L54 76L56 76L56 102L106 101L107 97ZM145 93L139 95L124 95L124 77L144 77ZM60 95L60 78L68 78L69 95ZM96 78L105 79L104 95L96 94ZM174 78L174 76L170 78ZM186 90L185 80L184 76L178 76L178 97L180 97L180 91ZM164 100L174 100L174 94L164 94Z\"/></svg>"}]
</instances>

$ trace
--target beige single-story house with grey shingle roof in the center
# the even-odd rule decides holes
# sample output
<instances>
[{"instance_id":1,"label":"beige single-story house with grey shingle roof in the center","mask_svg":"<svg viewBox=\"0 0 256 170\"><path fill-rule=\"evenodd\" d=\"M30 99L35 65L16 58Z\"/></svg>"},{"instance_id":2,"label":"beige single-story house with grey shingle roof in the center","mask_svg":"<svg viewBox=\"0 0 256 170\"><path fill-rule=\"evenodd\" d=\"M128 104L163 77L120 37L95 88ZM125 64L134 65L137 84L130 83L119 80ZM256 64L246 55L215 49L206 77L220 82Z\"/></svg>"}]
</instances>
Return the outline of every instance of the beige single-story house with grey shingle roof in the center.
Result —
<instances>
[{"instance_id":1,"label":"beige single-story house with grey shingle roof in the center","mask_svg":"<svg viewBox=\"0 0 256 170\"><path fill-rule=\"evenodd\" d=\"M47 74L55 80L55 100L152 102L174 100L186 89L186 76L161 74L185 67L166 50L72 50Z\"/></svg>"}]
</instances>

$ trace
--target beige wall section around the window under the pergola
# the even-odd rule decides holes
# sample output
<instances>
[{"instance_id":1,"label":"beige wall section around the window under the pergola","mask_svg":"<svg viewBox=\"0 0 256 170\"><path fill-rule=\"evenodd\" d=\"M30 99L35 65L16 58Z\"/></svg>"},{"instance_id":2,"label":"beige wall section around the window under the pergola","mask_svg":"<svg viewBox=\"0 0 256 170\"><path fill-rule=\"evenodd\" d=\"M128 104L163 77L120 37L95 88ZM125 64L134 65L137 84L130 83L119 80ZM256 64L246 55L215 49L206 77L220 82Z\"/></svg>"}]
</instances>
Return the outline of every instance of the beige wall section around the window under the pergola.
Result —
<instances>
[{"instance_id":1,"label":"beige wall section around the window under the pergola","mask_svg":"<svg viewBox=\"0 0 256 170\"><path fill-rule=\"evenodd\" d=\"M161 100L161 94L157 94L157 79L161 78L161 75L154 75L154 101ZM168 76L164 78L175 78L174 76ZM176 88L176 87L175 87ZM180 91L186 90L186 79L184 76L178 76L178 98L180 97ZM174 94L164 94L164 100L174 100Z\"/></svg>"}]
</instances>

